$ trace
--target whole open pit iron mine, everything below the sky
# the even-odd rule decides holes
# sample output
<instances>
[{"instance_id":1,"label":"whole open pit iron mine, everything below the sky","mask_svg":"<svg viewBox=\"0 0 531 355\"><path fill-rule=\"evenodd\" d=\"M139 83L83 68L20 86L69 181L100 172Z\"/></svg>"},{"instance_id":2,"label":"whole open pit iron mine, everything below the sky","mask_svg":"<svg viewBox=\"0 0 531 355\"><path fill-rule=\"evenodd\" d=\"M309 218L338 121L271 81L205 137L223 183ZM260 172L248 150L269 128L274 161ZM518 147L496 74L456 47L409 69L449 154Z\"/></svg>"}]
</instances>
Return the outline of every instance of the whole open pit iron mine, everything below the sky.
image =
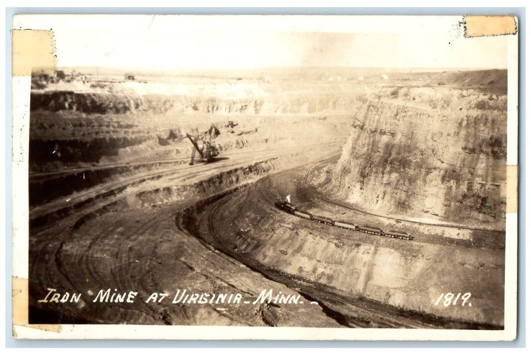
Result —
<instances>
[{"instance_id":1,"label":"whole open pit iron mine, everything below the sky","mask_svg":"<svg viewBox=\"0 0 531 355\"><path fill-rule=\"evenodd\" d=\"M503 329L507 72L32 80L29 321Z\"/></svg>"}]
</instances>

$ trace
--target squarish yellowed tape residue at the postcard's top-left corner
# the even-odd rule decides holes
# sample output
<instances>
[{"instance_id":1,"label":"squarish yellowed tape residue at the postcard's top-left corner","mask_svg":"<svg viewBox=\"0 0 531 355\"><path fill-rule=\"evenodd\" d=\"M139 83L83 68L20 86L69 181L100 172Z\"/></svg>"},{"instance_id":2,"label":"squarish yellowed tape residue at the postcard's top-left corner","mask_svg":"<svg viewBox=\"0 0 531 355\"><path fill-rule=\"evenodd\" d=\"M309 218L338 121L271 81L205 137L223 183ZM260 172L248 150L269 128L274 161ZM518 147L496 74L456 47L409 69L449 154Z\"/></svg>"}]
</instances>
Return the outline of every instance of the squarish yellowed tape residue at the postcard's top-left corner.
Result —
<instances>
[{"instance_id":1,"label":"squarish yellowed tape residue at the postcard's top-left corner","mask_svg":"<svg viewBox=\"0 0 531 355\"><path fill-rule=\"evenodd\" d=\"M12 30L13 76L55 75L54 34L50 30Z\"/></svg>"}]
</instances>

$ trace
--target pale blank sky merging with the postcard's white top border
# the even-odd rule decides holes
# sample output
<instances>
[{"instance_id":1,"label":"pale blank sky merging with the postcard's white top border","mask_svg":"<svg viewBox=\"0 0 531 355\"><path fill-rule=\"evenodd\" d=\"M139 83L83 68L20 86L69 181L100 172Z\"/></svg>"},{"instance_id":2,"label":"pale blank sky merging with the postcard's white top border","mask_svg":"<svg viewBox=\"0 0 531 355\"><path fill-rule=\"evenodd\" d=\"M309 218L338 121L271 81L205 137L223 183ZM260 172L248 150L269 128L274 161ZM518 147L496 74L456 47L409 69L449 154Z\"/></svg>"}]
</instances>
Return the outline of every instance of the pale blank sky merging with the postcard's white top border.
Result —
<instances>
[{"instance_id":1,"label":"pale blank sky merging with the postcard's white top border","mask_svg":"<svg viewBox=\"0 0 531 355\"><path fill-rule=\"evenodd\" d=\"M25 15L52 29L57 66L507 68L504 36L465 38L460 16Z\"/></svg>"}]
</instances>

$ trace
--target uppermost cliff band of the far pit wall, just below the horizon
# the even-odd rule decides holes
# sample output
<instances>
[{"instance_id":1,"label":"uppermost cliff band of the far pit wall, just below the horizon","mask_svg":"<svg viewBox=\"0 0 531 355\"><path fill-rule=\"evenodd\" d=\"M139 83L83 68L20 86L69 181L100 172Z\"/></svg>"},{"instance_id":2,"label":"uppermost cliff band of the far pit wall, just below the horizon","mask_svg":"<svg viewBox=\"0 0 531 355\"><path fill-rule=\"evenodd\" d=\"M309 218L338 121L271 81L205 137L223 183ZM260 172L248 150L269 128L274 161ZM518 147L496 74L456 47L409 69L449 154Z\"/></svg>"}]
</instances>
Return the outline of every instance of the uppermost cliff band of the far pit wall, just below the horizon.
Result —
<instances>
[{"instance_id":1,"label":"uppermost cliff band of the far pit wall, just below the horizon","mask_svg":"<svg viewBox=\"0 0 531 355\"><path fill-rule=\"evenodd\" d=\"M142 85L142 84L139 84ZM189 91L161 92L140 86L123 88L113 86L87 91L38 91L31 93L31 110L79 111L86 114L122 114L147 111L165 114L200 113L220 115L278 115L313 114L316 112L351 112L364 98L361 90L352 84L301 85L285 88L263 84L254 88L242 86L238 92L218 92L189 86ZM252 90L254 88L254 90ZM228 90L228 89L227 89Z\"/></svg>"}]
</instances>

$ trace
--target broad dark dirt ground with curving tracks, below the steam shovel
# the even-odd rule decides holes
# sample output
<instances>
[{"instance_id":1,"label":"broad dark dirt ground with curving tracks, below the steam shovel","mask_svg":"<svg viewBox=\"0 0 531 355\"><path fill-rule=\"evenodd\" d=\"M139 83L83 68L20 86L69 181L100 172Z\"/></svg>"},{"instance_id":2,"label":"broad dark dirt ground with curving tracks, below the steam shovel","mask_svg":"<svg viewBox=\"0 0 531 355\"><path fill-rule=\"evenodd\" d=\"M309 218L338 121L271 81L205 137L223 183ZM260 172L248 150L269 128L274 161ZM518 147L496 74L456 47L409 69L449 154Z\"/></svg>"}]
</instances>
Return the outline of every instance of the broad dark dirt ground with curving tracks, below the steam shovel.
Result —
<instances>
[{"instance_id":1,"label":"broad dark dirt ground with curving tracks, below the steam shovel","mask_svg":"<svg viewBox=\"0 0 531 355\"><path fill-rule=\"evenodd\" d=\"M156 174L152 179L141 174L100 184L63 204L54 201L32 211L34 217L49 218L30 231L30 322L340 326L319 305L302 303L304 297L298 304L253 304L263 290L299 295L187 235L175 223L177 211L200 196L255 180L312 149L337 147L249 152L215 164L150 172L150 177ZM222 178L226 181L217 181ZM157 195L166 188L176 189L173 199ZM142 194L159 201L147 203ZM67 213L55 220L58 209ZM65 302L50 301L48 289ZM118 302L105 299L108 289ZM216 298L178 301L184 290ZM137 292L133 302L119 298L130 292ZM73 293L81 295L78 301L72 301ZM150 299L153 293L155 300ZM220 301L219 295L226 297Z\"/></svg>"}]
</instances>

